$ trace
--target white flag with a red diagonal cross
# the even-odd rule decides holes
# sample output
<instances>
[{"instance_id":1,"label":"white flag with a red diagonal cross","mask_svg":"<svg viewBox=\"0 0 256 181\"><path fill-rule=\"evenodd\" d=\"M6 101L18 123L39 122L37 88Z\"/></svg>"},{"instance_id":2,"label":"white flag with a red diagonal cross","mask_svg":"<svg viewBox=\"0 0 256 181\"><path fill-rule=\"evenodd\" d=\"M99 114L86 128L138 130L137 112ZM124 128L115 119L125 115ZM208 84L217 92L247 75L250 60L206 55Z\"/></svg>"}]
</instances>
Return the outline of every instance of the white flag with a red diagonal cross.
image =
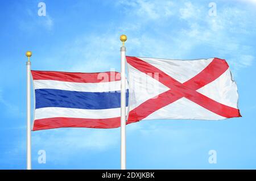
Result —
<instances>
[{"instance_id":1,"label":"white flag with a red diagonal cross","mask_svg":"<svg viewBox=\"0 0 256 181\"><path fill-rule=\"evenodd\" d=\"M126 60L130 110L127 123L149 119L241 117L237 85L225 60L129 56Z\"/></svg>"}]
</instances>

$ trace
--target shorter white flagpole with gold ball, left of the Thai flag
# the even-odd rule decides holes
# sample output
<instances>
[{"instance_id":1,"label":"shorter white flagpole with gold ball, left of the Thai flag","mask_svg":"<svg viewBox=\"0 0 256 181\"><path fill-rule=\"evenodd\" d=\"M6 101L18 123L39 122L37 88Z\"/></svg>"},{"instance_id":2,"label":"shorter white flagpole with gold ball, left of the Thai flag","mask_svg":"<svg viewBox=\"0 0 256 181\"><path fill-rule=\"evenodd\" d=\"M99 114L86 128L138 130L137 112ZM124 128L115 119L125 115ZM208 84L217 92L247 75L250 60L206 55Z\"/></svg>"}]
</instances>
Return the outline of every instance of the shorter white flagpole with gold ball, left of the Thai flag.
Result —
<instances>
[{"instance_id":1,"label":"shorter white flagpole with gold ball, left of the Thai flag","mask_svg":"<svg viewBox=\"0 0 256 181\"><path fill-rule=\"evenodd\" d=\"M28 57L27 65L27 170L31 170L31 86L30 86L30 70L31 62L30 57L32 52L27 51L26 56Z\"/></svg>"}]
</instances>

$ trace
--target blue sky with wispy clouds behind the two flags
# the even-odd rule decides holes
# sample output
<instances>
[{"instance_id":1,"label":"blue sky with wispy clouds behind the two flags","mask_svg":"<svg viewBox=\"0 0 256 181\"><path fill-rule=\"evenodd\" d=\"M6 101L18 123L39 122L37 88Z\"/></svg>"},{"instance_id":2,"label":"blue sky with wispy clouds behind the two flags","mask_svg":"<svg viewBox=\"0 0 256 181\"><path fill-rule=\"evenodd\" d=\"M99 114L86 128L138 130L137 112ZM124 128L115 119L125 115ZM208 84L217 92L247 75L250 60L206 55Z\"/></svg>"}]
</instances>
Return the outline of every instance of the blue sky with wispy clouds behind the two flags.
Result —
<instances>
[{"instance_id":1,"label":"blue sky with wispy clouds behind the two flags","mask_svg":"<svg viewBox=\"0 0 256 181\"><path fill-rule=\"evenodd\" d=\"M130 56L225 58L243 116L130 124L127 169L256 169L256 1L56 0L42 1L46 16L38 16L39 2L0 2L0 169L26 169L26 50L34 70L119 71L122 33ZM32 132L32 168L119 169L119 135L119 128Z\"/></svg>"}]
</instances>

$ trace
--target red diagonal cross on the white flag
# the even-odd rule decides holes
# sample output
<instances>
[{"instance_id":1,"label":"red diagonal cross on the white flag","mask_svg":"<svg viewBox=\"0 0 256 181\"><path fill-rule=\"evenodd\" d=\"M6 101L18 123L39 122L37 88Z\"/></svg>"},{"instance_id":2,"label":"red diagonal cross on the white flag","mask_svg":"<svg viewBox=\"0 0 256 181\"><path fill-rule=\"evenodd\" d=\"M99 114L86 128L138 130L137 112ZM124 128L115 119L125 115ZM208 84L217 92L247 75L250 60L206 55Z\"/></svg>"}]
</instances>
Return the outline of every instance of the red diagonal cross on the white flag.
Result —
<instances>
[{"instance_id":1,"label":"red diagonal cross on the white flag","mask_svg":"<svg viewBox=\"0 0 256 181\"><path fill-rule=\"evenodd\" d=\"M210 64L203 69L195 77L189 79L184 83L180 83L176 79L170 77L162 70L159 70L155 66L148 64L147 62L137 58L126 56L127 63L134 68L142 71L143 73L153 77L154 73L158 73L158 80L163 85L169 87L171 90L159 94L155 98L148 99L138 107L134 108L129 112L129 118L127 124L137 122L144 119L152 112L159 110L160 108L167 106L181 98L187 98L192 102L199 104L209 111L216 113L217 115L230 118L230 117L241 117L240 111L236 108L226 106L218 103L213 99L197 92L196 90L214 81L220 75L222 75L228 68L229 65L225 60L220 58L214 58Z\"/></svg>"}]
</instances>

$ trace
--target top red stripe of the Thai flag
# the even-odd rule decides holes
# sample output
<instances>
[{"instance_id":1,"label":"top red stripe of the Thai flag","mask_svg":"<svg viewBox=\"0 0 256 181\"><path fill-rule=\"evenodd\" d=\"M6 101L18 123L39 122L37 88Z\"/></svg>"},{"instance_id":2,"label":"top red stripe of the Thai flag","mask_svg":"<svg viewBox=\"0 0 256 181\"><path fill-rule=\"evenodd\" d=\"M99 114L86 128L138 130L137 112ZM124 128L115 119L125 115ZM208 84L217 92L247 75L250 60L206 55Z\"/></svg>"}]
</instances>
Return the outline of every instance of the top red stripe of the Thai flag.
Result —
<instances>
[{"instance_id":1,"label":"top red stripe of the Thai flag","mask_svg":"<svg viewBox=\"0 0 256 181\"><path fill-rule=\"evenodd\" d=\"M31 70L34 80L52 80L64 82L99 83L120 81L120 73L107 71L101 73L71 73L64 71L38 71Z\"/></svg>"}]
</instances>

